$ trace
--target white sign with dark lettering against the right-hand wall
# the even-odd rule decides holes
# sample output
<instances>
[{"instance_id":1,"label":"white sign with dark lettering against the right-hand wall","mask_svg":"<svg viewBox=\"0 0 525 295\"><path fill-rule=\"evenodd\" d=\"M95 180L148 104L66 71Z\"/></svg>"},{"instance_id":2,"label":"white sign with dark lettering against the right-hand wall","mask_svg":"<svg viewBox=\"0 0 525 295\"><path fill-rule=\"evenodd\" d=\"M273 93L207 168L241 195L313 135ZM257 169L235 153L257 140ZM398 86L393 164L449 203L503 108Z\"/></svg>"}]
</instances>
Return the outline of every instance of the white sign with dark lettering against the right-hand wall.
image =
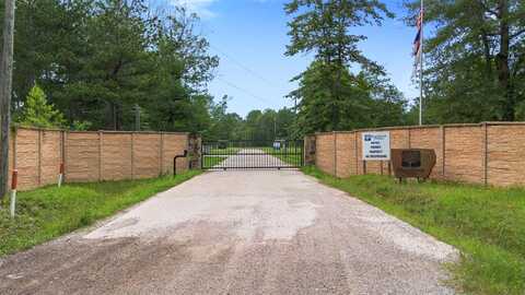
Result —
<instances>
[{"instance_id":1,"label":"white sign with dark lettering against the right-hand wall","mask_svg":"<svg viewBox=\"0 0 525 295\"><path fill-rule=\"evenodd\" d=\"M363 132L363 161L390 160L390 132Z\"/></svg>"}]
</instances>

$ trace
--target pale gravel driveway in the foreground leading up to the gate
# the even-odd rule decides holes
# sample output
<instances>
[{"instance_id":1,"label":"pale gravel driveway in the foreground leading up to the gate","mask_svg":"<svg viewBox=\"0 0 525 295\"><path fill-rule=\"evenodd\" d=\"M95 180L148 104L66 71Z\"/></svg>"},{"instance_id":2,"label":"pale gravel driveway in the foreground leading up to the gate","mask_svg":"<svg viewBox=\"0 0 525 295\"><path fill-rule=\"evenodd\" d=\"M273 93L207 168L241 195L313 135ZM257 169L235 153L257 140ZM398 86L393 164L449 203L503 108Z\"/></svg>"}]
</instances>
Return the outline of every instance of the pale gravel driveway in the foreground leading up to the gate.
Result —
<instances>
[{"instance_id":1,"label":"pale gravel driveway in the foreground leading up to the gate","mask_svg":"<svg viewBox=\"0 0 525 295\"><path fill-rule=\"evenodd\" d=\"M452 294L454 257L300 172L210 172L0 261L0 294Z\"/></svg>"}]
</instances>

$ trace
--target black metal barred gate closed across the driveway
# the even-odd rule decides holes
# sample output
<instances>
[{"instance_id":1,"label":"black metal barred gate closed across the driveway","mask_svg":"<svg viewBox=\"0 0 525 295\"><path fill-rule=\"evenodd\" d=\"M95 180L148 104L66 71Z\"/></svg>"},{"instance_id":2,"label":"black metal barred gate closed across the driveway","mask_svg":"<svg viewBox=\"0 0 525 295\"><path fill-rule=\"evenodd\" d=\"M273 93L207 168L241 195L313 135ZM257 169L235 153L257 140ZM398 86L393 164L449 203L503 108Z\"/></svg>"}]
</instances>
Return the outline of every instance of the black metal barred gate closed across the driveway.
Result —
<instances>
[{"instance_id":1,"label":"black metal barred gate closed across the driveway","mask_svg":"<svg viewBox=\"0 0 525 295\"><path fill-rule=\"evenodd\" d=\"M303 141L202 142L202 169L283 169L303 166Z\"/></svg>"}]
</instances>

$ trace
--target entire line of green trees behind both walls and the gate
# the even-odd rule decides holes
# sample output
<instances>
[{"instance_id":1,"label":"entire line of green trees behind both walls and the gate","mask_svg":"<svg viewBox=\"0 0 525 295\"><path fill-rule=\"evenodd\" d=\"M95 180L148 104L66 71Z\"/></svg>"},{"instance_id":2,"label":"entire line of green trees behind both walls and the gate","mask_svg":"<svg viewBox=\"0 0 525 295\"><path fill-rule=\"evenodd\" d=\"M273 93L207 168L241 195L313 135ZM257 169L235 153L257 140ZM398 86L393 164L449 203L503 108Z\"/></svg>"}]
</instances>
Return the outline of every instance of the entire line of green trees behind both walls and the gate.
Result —
<instances>
[{"instance_id":1,"label":"entire line of green trees behind both walls and the gate","mask_svg":"<svg viewBox=\"0 0 525 295\"><path fill-rule=\"evenodd\" d=\"M197 33L197 15L177 7L153 12L148 3L16 1L14 120L190 131L209 139L300 138L417 123L419 106L359 49L366 36L351 34L395 17L381 1L287 3L285 55L315 59L292 78L299 87L288 99L296 108L254 110L246 118L228 111L228 97L208 93L219 58ZM407 25L415 25L419 3L406 3ZM425 5L424 122L525 120L525 3L428 0ZM32 88L37 97L28 95ZM46 99L54 109L45 107Z\"/></svg>"}]
</instances>

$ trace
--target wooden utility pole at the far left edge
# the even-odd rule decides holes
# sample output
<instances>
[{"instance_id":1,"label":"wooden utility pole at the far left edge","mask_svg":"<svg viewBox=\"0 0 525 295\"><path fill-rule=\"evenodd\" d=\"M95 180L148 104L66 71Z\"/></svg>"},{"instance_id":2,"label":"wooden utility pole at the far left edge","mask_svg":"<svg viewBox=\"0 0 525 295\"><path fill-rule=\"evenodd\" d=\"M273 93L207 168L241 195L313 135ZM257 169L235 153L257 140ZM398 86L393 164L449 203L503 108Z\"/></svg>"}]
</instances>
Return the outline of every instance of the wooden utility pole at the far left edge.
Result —
<instances>
[{"instance_id":1,"label":"wooden utility pole at the far left edge","mask_svg":"<svg viewBox=\"0 0 525 295\"><path fill-rule=\"evenodd\" d=\"M14 1L4 0L3 47L0 57L0 125L1 157L0 200L8 192L9 179L9 123L11 121L11 95L13 83Z\"/></svg>"}]
</instances>

